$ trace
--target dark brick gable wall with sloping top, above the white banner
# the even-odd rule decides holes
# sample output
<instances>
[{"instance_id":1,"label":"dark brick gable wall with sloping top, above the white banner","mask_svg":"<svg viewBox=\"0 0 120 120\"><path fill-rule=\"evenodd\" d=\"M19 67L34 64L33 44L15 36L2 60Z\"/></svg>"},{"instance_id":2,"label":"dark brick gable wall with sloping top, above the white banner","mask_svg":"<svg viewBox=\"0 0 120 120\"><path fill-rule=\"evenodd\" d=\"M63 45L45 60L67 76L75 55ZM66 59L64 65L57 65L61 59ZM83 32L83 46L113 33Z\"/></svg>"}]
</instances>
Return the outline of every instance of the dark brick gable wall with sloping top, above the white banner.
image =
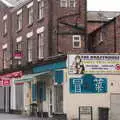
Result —
<instances>
[{"instance_id":1,"label":"dark brick gable wall with sloping top, above the white banner","mask_svg":"<svg viewBox=\"0 0 120 120\"><path fill-rule=\"evenodd\" d=\"M89 50L96 53L119 53L119 19L113 18L89 34Z\"/></svg>"}]
</instances>

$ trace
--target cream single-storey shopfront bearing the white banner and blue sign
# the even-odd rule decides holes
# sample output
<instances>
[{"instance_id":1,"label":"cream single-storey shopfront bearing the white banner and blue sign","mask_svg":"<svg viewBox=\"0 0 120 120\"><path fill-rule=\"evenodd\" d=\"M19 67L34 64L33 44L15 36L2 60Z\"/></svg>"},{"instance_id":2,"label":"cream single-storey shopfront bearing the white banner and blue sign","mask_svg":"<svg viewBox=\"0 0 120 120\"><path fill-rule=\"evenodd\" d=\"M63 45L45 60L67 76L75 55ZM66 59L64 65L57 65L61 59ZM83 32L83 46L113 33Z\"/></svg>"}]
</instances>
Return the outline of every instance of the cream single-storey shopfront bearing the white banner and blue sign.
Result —
<instances>
[{"instance_id":1,"label":"cream single-storey shopfront bearing the white banner and blue sign","mask_svg":"<svg viewBox=\"0 0 120 120\"><path fill-rule=\"evenodd\" d=\"M120 55L68 55L67 61L68 120L120 120Z\"/></svg>"}]
</instances>

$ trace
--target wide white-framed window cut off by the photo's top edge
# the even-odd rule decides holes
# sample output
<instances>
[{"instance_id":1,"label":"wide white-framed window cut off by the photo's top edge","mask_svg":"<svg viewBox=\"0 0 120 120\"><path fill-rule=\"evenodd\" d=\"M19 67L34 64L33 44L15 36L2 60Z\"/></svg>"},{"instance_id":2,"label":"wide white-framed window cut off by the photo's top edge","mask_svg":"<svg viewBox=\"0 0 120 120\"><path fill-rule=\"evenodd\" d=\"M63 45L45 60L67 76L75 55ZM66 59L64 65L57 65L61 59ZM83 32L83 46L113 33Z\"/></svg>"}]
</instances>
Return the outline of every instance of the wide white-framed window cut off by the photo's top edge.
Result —
<instances>
[{"instance_id":1,"label":"wide white-framed window cut off by the photo's top edge","mask_svg":"<svg viewBox=\"0 0 120 120\"><path fill-rule=\"evenodd\" d=\"M61 0L60 6L61 7L75 7L76 0Z\"/></svg>"}]
</instances>

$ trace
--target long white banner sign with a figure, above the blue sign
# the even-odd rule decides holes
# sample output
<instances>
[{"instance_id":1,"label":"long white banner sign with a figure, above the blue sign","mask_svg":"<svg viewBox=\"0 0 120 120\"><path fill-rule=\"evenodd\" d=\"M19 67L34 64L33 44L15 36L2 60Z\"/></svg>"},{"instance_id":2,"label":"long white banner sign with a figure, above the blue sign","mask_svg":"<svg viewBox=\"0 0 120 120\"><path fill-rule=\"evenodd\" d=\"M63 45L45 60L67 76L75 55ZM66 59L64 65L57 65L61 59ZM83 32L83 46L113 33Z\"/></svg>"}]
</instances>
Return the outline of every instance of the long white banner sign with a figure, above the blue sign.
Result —
<instances>
[{"instance_id":1,"label":"long white banner sign with a figure, above the blue sign","mask_svg":"<svg viewBox=\"0 0 120 120\"><path fill-rule=\"evenodd\" d=\"M120 74L120 55L68 55L69 74Z\"/></svg>"}]
</instances>

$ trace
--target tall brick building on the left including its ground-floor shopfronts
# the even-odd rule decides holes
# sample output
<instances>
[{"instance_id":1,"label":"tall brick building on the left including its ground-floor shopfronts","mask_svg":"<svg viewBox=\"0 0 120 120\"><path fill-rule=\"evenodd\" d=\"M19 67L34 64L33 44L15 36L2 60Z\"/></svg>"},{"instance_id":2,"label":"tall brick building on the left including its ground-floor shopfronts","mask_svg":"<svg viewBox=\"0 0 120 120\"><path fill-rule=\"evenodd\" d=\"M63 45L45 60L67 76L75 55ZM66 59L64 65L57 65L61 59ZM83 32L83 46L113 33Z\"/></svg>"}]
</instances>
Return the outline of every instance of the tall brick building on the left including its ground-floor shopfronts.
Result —
<instances>
[{"instance_id":1,"label":"tall brick building on the left including its ground-floor shopfronts","mask_svg":"<svg viewBox=\"0 0 120 120\"><path fill-rule=\"evenodd\" d=\"M12 76L22 71L23 76L18 85L14 83L16 78L7 76L11 86L0 87L4 96L0 98L0 110L30 111L30 104L35 102L39 112L42 109L47 116L55 110L63 113L63 86L55 86L53 78L57 74L63 77L66 56L61 54L87 51L86 0L5 1L0 10L1 80L8 73ZM33 99L36 90L38 100ZM51 91L56 92L56 98ZM43 99L44 94L50 100L55 98L54 105Z\"/></svg>"}]
</instances>

